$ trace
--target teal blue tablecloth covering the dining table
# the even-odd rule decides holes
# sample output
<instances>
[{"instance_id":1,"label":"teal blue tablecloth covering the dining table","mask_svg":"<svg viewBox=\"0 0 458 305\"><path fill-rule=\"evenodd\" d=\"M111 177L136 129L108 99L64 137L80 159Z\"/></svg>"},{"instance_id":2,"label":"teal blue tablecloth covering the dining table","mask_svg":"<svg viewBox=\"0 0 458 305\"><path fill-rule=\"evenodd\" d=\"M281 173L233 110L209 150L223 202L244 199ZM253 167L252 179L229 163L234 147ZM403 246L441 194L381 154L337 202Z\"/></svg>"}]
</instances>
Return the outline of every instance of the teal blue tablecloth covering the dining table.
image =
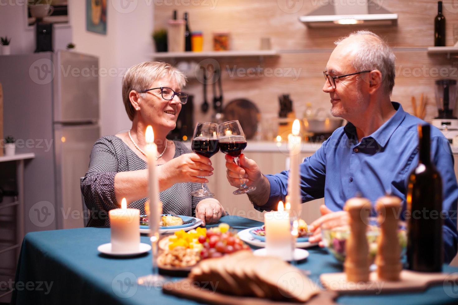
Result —
<instances>
[{"instance_id":1,"label":"teal blue tablecloth covering the dining table","mask_svg":"<svg viewBox=\"0 0 458 305\"><path fill-rule=\"evenodd\" d=\"M262 225L238 216L221 219L235 229ZM142 236L143 243L148 237ZM16 271L18 289L12 304L197 304L163 294L160 288L136 284L136 278L151 272L151 251L141 257L106 257L97 247L110 241L109 228L82 228L33 232L25 236ZM318 281L321 273L340 272L342 266L318 247L298 265ZM444 267L458 272L458 268ZM174 278L170 278L173 280ZM22 284L21 284L22 283ZM121 284L122 283L122 284ZM390 295L342 296L342 304L457 304L458 291L450 284L424 292Z\"/></svg>"}]
</instances>

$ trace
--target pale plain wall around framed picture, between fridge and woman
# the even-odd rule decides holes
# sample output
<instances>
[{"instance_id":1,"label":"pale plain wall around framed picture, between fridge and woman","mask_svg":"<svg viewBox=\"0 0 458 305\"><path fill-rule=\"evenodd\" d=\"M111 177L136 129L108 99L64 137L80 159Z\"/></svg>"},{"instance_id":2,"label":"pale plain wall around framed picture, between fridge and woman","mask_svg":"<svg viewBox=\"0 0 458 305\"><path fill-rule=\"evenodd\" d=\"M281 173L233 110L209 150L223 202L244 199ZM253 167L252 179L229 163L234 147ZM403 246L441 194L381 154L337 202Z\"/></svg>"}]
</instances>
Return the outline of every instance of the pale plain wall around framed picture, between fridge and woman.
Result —
<instances>
[{"instance_id":1,"label":"pale plain wall around framed picture, between fridge and woman","mask_svg":"<svg viewBox=\"0 0 458 305\"><path fill-rule=\"evenodd\" d=\"M81 2L70 0L69 4L73 42L77 52L100 59L101 134L116 134L131 128L122 103L122 76L132 65L151 59L154 2L131 1L123 9L119 1L108 0L106 35L86 31L86 5Z\"/></svg>"}]
</instances>

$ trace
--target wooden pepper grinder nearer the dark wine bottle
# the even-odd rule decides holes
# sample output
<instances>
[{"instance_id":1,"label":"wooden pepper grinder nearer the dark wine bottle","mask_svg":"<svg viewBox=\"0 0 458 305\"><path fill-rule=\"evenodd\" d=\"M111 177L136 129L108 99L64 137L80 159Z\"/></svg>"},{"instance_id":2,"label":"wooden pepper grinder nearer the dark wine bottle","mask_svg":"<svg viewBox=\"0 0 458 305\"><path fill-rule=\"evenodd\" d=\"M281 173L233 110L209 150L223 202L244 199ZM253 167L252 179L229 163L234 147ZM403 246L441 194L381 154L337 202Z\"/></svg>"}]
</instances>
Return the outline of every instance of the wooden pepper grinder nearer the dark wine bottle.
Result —
<instances>
[{"instance_id":1,"label":"wooden pepper grinder nearer the dark wine bottle","mask_svg":"<svg viewBox=\"0 0 458 305\"><path fill-rule=\"evenodd\" d=\"M377 275L382 280L398 281L402 270L397 218L401 210L401 199L396 196L383 196L378 198L376 208L381 231L375 259Z\"/></svg>"}]
</instances>

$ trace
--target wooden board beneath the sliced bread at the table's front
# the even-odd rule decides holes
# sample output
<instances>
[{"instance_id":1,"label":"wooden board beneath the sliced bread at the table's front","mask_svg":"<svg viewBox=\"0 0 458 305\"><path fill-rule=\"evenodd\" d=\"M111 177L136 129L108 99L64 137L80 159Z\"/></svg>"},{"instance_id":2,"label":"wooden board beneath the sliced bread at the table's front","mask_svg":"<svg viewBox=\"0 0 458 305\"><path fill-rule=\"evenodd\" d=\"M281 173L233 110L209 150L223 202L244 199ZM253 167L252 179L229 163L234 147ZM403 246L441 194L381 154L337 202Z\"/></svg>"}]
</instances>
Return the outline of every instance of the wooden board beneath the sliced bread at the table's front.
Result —
<instances>
[{"instance_id":1,"label":"wooden board beneath the sliced bread at the table's front","mask_svg":"<svg viewBox=\"0 0 458 305\"><path fill-rule=\"evenodd\" d=\"M241 283L243 284L243 283ZM177 282L167 282L162 288L164 294L174 295L180 298L194 300L199 303L215 304L215 305L291 305L298 303L277 302L267 299L243 297L214 292L211 289L202 288L192 284L189 278ZM333 291L320 291L319 294L309 300L307 305L322 305L335 304L334 299L338 296Z\"/></svg>"}]
</instances>

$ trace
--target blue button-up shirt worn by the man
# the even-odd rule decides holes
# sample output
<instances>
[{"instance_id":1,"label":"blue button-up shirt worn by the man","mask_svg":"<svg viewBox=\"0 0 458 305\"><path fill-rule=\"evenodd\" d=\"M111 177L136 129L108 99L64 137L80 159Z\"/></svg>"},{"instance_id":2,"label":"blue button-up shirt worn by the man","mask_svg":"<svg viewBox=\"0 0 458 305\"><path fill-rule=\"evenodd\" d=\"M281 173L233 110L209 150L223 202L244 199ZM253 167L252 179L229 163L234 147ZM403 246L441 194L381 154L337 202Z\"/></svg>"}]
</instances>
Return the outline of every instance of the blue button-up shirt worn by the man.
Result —
<instances>
[{"instance_id":1,"label":"blue button-up shirt worn by the man","mask_svg":"<svg viewBox=\"0 0 458 305\"><path fill-rule=\"evenodd\" d=\"M417 125L425 122L405 112L399 103L393 102L393 107L397 110L393 117L359 143L356 128L347 123L300 164L302 202L324 197L329 209L339 211L358 192L372 203L390 192L403 200L405 215L408 178L419 158ZM457 253L458 185L450 144L435 127L431 127L431 159L442 177L443 210L447 213L444 258L450 262ZM261 207L255 205L261 211L284 201L288 189L288 171L266 177L270 198Z\"/></svg>"}]
</instances>

